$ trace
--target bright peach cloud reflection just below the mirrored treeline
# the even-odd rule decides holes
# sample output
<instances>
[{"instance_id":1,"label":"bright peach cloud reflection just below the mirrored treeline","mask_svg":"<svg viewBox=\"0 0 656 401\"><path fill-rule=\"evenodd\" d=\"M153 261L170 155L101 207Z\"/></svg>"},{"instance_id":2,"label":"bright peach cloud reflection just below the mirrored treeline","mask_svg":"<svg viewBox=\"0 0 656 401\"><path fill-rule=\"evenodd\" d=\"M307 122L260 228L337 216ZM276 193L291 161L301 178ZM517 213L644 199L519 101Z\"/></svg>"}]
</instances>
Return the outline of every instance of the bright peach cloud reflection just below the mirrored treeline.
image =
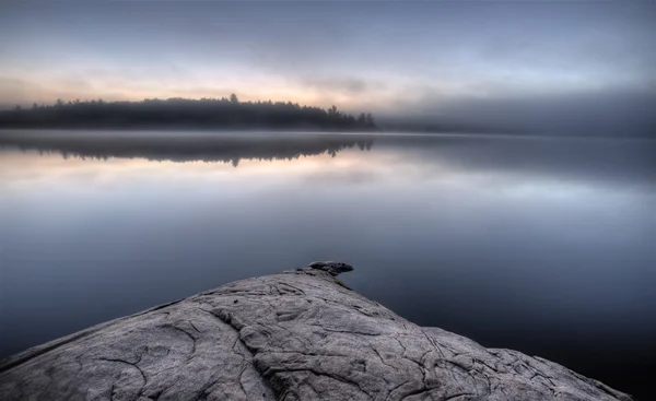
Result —
<instances>
[{"instance_id":1,"label":"bright peach cloud reflection just below the mirrored treeline","mask_svg":"<svg viewBox=\"0 0 656 401\"><path fill-rule=\"evenodd\" d=\"M58 188L106 188L128 186L138 190L157 186L175 188L212 188L221 185L268 186L276 182L309 179L313 182L321 174L333 175L333 181L354 174L359 180L365 179L352 167L362 164L356 156L360 150L354 146L339 156L330 153L298 156L290 160L242 160L235 168L232 163L210 163L204 161L172 162L149 161L145 158L121 157L79 157L65 158L59 152L0 149L0 187ZM366 163L366 162L364 162Z\"/></svg>"}]
</instances>

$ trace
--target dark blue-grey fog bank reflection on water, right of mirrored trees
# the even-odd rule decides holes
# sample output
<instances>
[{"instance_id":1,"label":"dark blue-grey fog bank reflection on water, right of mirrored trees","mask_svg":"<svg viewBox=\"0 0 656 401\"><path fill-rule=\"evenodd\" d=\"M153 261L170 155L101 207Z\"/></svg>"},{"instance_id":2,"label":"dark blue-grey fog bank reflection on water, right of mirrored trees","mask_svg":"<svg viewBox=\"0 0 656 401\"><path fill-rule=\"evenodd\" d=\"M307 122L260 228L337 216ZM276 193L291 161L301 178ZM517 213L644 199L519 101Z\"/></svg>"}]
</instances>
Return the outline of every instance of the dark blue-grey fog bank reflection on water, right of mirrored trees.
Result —
<instances>
[{"instance_id":1,"label":"dark blue-grey fog bank reflection on water, right of mirrored trees","mask_svg":"<svg viewBox=\"0 0 656 401\"><path fill-rule=\"evenodd\" d=\"M446 169L488 187L513 180L572 189L593 185L656 189L656 141L648 140L379 137L376 152L397 154L397 162L390 163L433 165L423 168L427 177Z\"/></svg>"}]
</instances>

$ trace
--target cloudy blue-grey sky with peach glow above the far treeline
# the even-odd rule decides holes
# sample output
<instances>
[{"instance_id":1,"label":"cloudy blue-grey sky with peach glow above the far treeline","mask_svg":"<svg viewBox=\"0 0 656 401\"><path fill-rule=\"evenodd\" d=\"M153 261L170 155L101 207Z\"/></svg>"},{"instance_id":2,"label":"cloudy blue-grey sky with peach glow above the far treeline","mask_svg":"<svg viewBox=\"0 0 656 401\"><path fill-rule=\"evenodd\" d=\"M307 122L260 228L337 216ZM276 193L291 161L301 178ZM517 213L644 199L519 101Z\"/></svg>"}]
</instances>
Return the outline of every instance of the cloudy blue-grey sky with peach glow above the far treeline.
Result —
<instances>
[{"instance_id":1,"label":"cloudy blue-grey sky with peach glow above the far treeline","mask_svg":"<svg viewBox=\"0 0 656 401\"><path fill-rule=\"evenodd\" d=\"M0 106L234 92L384 116L636 121L656 106L654 26L653 1L3 1Z\"/></svg>"}]
</instances>

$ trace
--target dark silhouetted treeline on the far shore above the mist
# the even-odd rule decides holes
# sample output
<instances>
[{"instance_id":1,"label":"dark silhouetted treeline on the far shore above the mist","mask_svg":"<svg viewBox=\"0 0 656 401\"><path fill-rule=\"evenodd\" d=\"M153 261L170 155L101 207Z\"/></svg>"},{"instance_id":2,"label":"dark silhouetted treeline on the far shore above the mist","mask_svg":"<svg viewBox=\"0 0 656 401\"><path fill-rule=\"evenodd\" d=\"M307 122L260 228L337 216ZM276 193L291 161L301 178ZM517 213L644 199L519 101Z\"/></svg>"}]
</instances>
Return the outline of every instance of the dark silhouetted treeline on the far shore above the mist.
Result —
<instances>
[{"instance_id":1,"label":"dark silhouetted treeline on the far shore above the mist","mask_svg":"<svg viewBox=\"0 0 656 401\"><path fill-rule=\"evenodd\" d=\"M376 130L371 114L354 117L340 111L291 102L239 102L222 98L168 98L142 102L68 102L16 106L0 113L3 128L222 128Z\"/></svg>"}]
</instances>

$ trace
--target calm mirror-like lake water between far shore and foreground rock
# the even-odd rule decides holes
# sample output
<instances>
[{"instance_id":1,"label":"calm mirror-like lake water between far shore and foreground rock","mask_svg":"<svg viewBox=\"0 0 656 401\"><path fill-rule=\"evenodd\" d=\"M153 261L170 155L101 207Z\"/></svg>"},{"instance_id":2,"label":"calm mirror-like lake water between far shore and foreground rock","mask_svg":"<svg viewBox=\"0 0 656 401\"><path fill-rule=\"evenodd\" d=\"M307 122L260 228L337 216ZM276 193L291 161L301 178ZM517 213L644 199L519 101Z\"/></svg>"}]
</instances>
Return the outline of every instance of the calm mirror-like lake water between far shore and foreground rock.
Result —
<instances>
[{"instance_id":1,"label":"calm mirror-like lake water between far shore and foreground rock","mask_svg":"<svg viewBox=\"0 0 656 401\"><path fill-rule=\"evenodd\" d=\"M324 259L417 323L646 396L656 142L0 133L0 356Z\"/></svg>"}]
</instances>

